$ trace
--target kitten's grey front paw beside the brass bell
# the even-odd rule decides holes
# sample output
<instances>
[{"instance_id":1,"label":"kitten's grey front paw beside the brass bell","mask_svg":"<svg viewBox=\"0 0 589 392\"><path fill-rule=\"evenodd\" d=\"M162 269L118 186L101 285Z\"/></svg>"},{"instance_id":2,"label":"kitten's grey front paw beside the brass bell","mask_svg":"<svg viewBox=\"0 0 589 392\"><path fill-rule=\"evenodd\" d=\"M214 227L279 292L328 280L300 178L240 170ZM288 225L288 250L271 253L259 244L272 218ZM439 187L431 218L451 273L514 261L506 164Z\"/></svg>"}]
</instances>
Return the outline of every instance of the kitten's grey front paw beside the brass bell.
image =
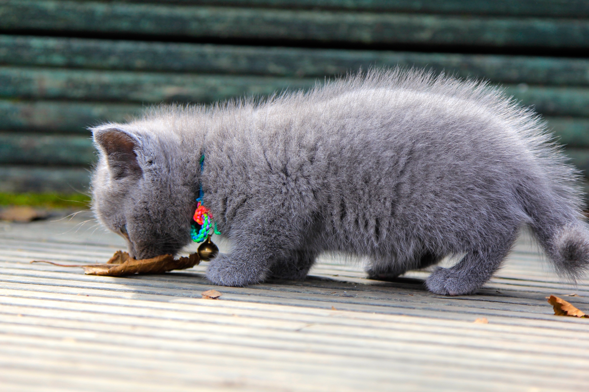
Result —
<instances>
[{"instance_id":1,"label":"kitten's grey front paw beside the brass bell","mask_svg":"<svg viewBox=\"0 0 589 392\"><path fill-rule=\"evenodd\" d=\"M256 269L253 262L234 260L228 254L219 254L209 263L207 279L219 286L243 287L262 282L264 270Z\"/></svg>"}]
</instances>

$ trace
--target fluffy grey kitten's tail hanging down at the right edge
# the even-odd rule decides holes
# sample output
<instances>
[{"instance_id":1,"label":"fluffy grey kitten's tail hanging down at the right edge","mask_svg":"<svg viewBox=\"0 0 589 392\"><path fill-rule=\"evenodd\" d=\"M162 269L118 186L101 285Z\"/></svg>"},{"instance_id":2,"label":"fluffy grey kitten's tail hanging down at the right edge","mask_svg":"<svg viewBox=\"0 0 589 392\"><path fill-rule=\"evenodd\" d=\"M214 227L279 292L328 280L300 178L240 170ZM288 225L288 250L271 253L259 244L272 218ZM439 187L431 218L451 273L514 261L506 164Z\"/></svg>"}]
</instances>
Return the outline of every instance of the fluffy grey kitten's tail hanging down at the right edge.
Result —
<instances>
[{"instance_id":1,"label":"fluffy grey kitten's tail hanging down at the right edge","mask_svg":"<svg viewBox=\"0 0 589 392\"><path fill-rule=\"evenodd\" d=\"M561 189L562 190L562 189ZM589 229L583 221L580 197L574 192L528 193L525 206L531 229L558 273L572 282L589 269Z\"/></svg>"}]
</instances>

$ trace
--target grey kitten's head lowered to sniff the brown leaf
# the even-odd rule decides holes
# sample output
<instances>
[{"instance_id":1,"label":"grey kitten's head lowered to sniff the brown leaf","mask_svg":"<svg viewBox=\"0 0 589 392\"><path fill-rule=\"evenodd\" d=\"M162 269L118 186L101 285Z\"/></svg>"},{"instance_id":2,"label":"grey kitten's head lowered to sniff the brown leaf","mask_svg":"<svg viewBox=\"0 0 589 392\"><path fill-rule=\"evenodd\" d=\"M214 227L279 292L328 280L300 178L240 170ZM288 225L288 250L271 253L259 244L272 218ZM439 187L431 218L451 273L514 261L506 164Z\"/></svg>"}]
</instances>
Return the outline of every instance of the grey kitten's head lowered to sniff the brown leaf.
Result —
<instances>
[{"instance_id":1,"label":"grey kitten's head lowered to sniff the brown leaf","mask_svg":"<svg viewBox=\"0 0 589 392\"><path fill-rule=\"evenodd\" d=\"M190 240L198 184L178 136L117 124L92 132L100 151L92 176L95 216L127 240L135 259L176 254Z\"/></svg>"}]
</instances>

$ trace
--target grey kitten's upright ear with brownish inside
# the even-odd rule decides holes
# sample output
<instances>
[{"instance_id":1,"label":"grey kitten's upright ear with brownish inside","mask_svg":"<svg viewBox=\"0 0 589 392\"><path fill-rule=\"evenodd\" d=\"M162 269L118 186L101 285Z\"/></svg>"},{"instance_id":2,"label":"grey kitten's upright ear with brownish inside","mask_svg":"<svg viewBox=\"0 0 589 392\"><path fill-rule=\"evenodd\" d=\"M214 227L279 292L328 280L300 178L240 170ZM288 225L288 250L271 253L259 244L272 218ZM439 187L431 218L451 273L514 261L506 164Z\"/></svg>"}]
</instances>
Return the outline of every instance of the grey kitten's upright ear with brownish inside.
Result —
<instances>
[{"instance_id":1,"label":"grey kitten's upright ear with brownish inside","mask_svg":"<svg viewBox=\"0 0 589 392\"><path fill-rule=\"evenodd\" d=\"M107 159L112 178L141 176L141 166L137 162L139 141L135 136L114 126L92 129L94 143Z\"/></svg>"}]
</instances>

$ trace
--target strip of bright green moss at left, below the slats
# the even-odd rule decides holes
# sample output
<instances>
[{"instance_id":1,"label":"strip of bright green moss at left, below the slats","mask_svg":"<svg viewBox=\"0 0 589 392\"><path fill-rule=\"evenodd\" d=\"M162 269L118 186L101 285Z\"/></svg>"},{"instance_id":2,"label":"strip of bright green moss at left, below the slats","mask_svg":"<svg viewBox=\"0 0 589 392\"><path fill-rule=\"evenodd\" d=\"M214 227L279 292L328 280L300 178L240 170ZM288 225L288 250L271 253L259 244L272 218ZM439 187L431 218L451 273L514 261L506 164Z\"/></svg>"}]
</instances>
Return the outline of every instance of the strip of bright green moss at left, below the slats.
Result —
<instances>
[{"instance_id":1,"label":"strip of bright green moss at left, below the slats","mask_svg":"<svg viewBox=\"0 0 589 392\"><path fill-rule=\"evenodd\" d=\"M3 193L0 206L38 206L48 208L84 207L90 205L90 196L81 193Z\"/></svg>"}]
</instances>

